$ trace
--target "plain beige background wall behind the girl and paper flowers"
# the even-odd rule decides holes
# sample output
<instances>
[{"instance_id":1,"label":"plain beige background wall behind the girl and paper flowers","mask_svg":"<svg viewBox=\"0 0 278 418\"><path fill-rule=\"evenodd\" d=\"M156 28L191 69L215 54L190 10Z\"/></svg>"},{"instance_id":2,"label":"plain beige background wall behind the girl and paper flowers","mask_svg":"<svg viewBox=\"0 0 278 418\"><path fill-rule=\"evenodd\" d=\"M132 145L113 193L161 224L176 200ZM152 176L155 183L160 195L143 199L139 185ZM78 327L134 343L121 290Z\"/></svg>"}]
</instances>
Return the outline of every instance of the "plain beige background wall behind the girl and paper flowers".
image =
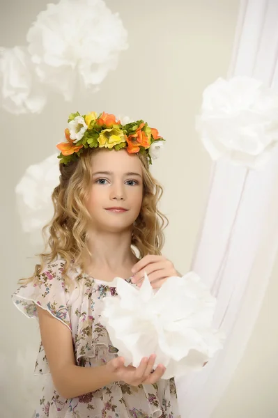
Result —
<instances>
[{"instance_id":1,"label":"plain beige background wall behind the girl and paper flowers","mask_svg":"<svg viewBox=\"0 0 278 418\"><path fill-rule=\"evenodd\" d=\"M29 25L46 3L1 0L0 45L24 45ZM52 94L39 116L13 116L0 110L0 400L5 418L27 418L36 405L32 370L38 327L10 302L17 279L30 274L35 262L29 238L21 230L15 185L30 164L52 155L63 140L71 111L105 110L143 118L167 138L167 149L153 166L165 188L162 210L170 221L164 254L178 270L190 268L210 173L210 158L194 132L194 116L203 88L226 76L238 0L109 0L107 5L120 13L130 48L98 93L79 91L71 103ZM278 417L275 272L245 357L213 418Z\"/></svg>"}]
</instances>

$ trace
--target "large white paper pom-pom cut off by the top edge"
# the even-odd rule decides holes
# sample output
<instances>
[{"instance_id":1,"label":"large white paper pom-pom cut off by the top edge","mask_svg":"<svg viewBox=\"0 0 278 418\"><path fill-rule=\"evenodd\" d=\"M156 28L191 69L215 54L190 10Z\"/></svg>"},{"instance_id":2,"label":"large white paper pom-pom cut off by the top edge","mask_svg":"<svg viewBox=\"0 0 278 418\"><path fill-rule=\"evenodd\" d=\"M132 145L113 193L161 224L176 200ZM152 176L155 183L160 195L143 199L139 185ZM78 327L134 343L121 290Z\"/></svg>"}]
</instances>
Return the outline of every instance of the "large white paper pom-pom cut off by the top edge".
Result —
<instances>
[{"instance_id":1,"label":"large white paper pom-pom cut off by the top edge","mask_svg":"<svg viewBox=\"0 0 278 418\"><path fill-rule=\"evenodd\" d=\"M29 52L40 80L72 98L77 75L86 88L98 86L116 69L127 49L120 17L102 0L61 0L38 14L27 33Z\"/></svg>"}]
</instances>

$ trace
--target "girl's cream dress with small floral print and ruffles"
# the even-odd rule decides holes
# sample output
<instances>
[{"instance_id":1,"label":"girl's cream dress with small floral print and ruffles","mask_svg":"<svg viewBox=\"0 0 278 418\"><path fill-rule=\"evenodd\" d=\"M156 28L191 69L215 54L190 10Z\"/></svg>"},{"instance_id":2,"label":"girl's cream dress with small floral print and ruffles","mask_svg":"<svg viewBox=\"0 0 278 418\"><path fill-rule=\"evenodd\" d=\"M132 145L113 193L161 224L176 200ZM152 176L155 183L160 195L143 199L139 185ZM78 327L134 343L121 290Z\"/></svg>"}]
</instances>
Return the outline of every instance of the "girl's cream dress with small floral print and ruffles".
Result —
<instances>
[{"instance_id":1,"label":"girl's cream dress with small floral print and ruffles","mask_svg":"<svg viewBox=\"0 0 278 418\"><path fill-rule=\"evenodd\" d=\"M38 280L20 286L13 302L29 318L37 317L37 306L49 311L72 333L76 364L101 366L117 356L100 324L102 299L116 296L116 288L74 269L69 273L74 285L69 288L62 275L64 263L49 263ZM63 398L53 385L42 343L35 374L48 375L35 418L180 418L173 379L138 387L112 382L77 398Z\"/></svg>"}]
</instances>

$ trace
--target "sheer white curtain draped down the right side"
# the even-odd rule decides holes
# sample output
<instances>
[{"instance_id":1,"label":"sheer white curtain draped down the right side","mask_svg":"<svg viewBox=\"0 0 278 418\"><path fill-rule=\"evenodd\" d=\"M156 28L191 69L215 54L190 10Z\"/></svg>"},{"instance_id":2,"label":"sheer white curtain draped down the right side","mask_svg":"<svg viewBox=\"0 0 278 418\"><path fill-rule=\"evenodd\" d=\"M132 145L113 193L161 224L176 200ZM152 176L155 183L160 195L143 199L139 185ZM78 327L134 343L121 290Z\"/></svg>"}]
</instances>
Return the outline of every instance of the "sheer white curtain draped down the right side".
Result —
<instances>
[{"instance_id":1,"label":"sheer white curtain draped down the right side","mask_svg":"<svg viewBox=\"0 0 278 418\"><path fill-rule=\"evenodd\" d=\"M278 1L240 4L228 77L261 79L278 93ZM278 251L278 151L262 171L213 165L192 270L217 296L227 336L201 373L178 380L182 418L208 418L245 351Z\"/></svg>"}]
</instances>

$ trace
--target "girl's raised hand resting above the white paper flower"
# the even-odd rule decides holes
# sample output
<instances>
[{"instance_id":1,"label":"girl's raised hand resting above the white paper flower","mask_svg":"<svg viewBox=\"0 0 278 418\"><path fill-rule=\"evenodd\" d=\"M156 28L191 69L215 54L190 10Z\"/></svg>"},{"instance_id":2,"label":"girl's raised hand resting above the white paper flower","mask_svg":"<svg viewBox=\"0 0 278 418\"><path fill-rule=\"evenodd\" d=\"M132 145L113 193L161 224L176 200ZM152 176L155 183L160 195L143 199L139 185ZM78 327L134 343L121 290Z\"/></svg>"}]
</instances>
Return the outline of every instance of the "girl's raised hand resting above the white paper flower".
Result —
<instances>
[{"instance_id":1,"label":"girl's raised hand resting above the white paper flower","mask_svg":"<svg viewBox=\"0 0 278 418\"><path fill-rule=\"evenodd\" d=\"M141 258L132 268L132 273L134 274L132 283L140 287L145 272L148 274L148 279L154 289L160 288L169 277L181 277L180 273L174 268L173 263L163 256L148 255Z\"/></svg>"}]
</instances>

